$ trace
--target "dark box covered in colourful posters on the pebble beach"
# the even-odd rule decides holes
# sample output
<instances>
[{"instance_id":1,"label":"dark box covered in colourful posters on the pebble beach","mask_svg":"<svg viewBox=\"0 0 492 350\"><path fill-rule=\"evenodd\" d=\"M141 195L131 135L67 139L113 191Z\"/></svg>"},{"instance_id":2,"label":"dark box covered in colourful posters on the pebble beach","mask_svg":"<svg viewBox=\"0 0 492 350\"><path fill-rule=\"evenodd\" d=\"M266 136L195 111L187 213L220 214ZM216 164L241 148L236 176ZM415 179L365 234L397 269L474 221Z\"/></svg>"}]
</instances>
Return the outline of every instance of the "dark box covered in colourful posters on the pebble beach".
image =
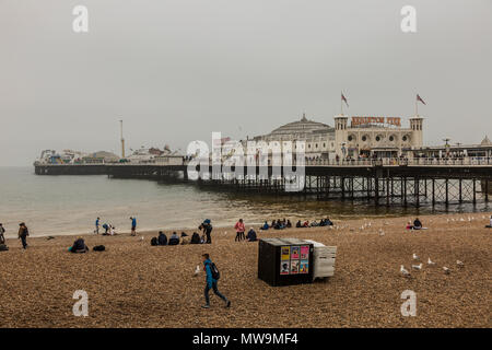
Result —
<instances>
[{"instance_id":1,"label":"dark box covered in colourful posters on the pebble beach","mask_svg":"<svg viewBox=\"0 0 492 350\"><path fill-rule=\"evenodd\" d=\"M313 243L263 238L258 244L258 278L270 285L313 282Z\"/></svg>"}]
</instances>

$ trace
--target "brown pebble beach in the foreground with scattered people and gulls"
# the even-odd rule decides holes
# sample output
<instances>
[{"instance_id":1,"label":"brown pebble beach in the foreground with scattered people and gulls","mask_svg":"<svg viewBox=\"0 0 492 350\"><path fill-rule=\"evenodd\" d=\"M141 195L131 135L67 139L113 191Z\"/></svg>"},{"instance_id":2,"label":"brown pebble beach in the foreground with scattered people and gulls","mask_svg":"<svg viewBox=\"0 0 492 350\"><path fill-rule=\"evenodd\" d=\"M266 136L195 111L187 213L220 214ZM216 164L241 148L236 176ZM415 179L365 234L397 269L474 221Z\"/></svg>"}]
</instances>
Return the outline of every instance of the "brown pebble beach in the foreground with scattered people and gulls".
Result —
<instances>
[{"instance_id":1,"label":"brown pebble beach in the foreground with scattered people and gulls","mask_svg":"<svg viewBox=\"0 0 492 350\"><path fill-rule=\"evenodd\" d=\"M0 327L491 327L492 229L484 228L491 214L424 215L422 231L405 230L409 217L335 221L332 229L255 226L259 238L338 247L333 277L289 287L257 278L258 243L234 242L232 228L215 228L212 245L151 246L156 231L84 234L87 254L68 253L73 235L30 238L25 252L8 238L10 250L0 252ZM101 244L106 252L92 252ZM221 270L219 289L231 308L213 293L211 308L200 307L204 275L194 270L203 253ZM411 268L420 262L421 270ZM86 317L72 313L77 290L89 295ZM406 290L415 292L417 316L401 315Z\"/></svg>"}]
</instances>

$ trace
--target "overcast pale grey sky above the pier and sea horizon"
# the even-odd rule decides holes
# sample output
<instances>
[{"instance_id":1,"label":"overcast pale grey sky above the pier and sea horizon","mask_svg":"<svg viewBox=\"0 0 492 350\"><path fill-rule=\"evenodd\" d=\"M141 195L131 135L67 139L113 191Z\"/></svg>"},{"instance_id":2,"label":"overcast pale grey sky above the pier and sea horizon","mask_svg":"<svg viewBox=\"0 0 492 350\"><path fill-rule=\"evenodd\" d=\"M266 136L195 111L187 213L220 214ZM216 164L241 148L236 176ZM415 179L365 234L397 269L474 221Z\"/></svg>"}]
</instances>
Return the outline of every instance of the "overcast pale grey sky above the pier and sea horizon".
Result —
<instances>
[{"instance_id":1,"label":"overcast pale grey sky above the pier and sea horizon","mask_svg":"<svg viewBox=\"0 0 492 350\"><path fill-rule=\"evenodd\" d=\"M89 9L89 33L72 9ZM400 10L417 8L417 33ZM492 137L491 0L0 0L0 164L43 149L186 149L308 118L401 116ZM407 125L405 120L405 125Z\"/></svg>"}]
</instances>

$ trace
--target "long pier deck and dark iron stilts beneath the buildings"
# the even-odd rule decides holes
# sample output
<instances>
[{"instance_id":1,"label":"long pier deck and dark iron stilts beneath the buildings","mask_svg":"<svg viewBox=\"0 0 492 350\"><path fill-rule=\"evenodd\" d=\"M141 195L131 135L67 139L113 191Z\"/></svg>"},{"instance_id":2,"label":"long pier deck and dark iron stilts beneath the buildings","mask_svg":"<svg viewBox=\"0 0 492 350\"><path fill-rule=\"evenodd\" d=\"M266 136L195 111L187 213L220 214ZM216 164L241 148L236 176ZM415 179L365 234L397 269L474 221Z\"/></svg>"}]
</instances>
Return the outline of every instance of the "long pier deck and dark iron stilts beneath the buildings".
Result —
<instances>
[{"instance_id":1,"label":"long pier deck and dark iron stilts beneath the buildings","mask_svg":"<svg viewBox=\"0 0 492 350\"><path fill-rule=\"evenodd\" d=\"M199 166L196 167L197 171ZM295 166L293 171L295 172ZM203 170L202 170L203 171ZM188 179L188 163L35 164L37 175L107 175L112 178L141 178L163 183L183 182L200 188L276 196L316 196L319 199L366 200L375 206L456 205L489 202L492 159L379 159L306 160L305 186L285 191L290 179L282 167L254 166L241 177L210 165L211 176ZM235 168L230 168L234 172ZM214 173L215 172L215 173ZM246 167L245 167L246 173ZM298 176L297 176L298 177ZM297 178L296 180L300 180Z\"/></svg>"}]
</instances>

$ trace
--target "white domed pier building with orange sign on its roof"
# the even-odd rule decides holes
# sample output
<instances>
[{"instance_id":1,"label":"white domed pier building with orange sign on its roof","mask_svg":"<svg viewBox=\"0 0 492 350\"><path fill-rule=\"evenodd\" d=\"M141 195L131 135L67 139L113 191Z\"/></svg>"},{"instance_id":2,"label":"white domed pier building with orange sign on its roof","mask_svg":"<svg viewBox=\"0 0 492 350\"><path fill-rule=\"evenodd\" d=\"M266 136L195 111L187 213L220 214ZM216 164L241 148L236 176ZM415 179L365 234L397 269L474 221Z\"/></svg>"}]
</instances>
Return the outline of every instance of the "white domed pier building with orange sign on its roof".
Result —
<instances>
[{"instance_id":1,"label":"white domed pier building with orange sign on its roof","mask_svg":"<svg viewBox=\"0 0 492 350\"><path fill-rule=\"evenodd\" d=\"M335 127L307 119L285 124L255 141L304 141L307 160L411 156L423 143L423 118L409 119L401 126L400 117L359 117L337 115Z\"/></svg>"}]
</instances>

